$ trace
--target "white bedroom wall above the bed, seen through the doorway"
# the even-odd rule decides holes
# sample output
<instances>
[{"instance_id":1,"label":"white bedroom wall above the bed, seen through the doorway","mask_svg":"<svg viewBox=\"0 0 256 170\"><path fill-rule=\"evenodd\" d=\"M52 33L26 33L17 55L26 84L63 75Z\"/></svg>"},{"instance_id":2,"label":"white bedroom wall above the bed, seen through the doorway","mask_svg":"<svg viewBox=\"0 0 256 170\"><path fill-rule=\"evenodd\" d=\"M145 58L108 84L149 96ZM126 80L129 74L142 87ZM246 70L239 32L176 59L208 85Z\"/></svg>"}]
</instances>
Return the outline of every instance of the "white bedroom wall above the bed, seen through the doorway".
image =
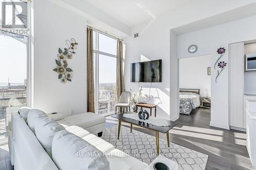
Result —
<instances>
[{"instance_id":1,"label":"white bedroom wall above the bed, seen through the doorway","mask_svg":"<svg viewBox=\"0 0 256 170\"><path fill-rule=\"evenodd\" d=\"M207 75L207 67L210 66L210 56L197 56L180 59L180 88L200 89L201 96L206 96L208 91L208 96L210 96L210 76Z\"/></svg>"}]
</instances>

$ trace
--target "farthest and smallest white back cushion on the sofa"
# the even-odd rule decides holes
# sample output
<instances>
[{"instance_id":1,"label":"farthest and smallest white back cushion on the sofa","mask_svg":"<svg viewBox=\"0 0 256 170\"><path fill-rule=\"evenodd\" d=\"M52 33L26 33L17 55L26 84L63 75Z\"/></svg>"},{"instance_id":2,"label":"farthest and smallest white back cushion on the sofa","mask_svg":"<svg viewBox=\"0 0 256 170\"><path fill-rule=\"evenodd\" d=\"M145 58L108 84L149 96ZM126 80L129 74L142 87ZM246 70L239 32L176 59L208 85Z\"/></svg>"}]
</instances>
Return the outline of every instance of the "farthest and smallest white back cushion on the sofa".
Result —
<instances>
[{"instance_id":1,"label":"farthest and smallest white back cushion on the sofa","mask_svg":"<svg viewBox=\"0 0 256 170\"><path fill-rule=\"evenodd\" d=\"M38 110L38 109L32 109L28 113L27 122L30 130L35 134L35 124L38 118L40 117L46 117L46 113Z\"/></svg>"}]
</instances>

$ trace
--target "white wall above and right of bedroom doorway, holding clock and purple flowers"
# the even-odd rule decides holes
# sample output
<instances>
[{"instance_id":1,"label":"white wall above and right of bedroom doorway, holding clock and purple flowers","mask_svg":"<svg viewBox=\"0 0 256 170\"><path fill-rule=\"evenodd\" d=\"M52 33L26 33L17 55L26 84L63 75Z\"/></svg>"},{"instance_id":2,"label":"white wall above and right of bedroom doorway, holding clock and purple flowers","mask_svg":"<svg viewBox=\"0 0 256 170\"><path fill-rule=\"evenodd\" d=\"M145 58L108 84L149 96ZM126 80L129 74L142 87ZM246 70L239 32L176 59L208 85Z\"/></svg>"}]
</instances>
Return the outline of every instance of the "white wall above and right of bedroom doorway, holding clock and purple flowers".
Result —
<instances>
[{"instance_id":1,"label":"white wall above and right of bedroom doorway, holding clock and purple flowers","mask_svg":"<svg viewBox=\"0 0 256 170\"><path fill-rule=\"evenodd\" d=\"M253 40L256 38L256 15L234 20L215 27L198 30L178 36L177 57L193 57L211 55L211 126L229 128L228 123L228 44ZM189 54L187 47L191 44L198 45L195 54ZM217 70L214 63L219 55L216 50L225 47L226 53L221 61L226 61L227 66L215 83Z\"/></svg>"}]
</instances>

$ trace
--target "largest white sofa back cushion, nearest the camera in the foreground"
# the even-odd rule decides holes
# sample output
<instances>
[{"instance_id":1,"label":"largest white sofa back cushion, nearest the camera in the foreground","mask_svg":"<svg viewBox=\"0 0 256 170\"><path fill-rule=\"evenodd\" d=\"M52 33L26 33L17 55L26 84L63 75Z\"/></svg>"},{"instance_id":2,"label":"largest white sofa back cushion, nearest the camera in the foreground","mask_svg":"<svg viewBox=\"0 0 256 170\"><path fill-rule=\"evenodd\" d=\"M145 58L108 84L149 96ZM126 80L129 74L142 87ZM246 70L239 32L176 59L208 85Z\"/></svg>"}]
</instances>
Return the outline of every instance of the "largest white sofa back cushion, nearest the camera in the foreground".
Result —
<instances>
[{"instance_id":1,"label":"largest white sofa back cushion, nearest the camera in the foreground","mask_svg":"<svg viewBox=\"0 0 256 170\"><path fill-rule=\"evenodd\" d=\"M109 170L109 161L93 145L68 132L57 132L52 141L52 158L60 170Z\"/></svg>"}]
</instances>

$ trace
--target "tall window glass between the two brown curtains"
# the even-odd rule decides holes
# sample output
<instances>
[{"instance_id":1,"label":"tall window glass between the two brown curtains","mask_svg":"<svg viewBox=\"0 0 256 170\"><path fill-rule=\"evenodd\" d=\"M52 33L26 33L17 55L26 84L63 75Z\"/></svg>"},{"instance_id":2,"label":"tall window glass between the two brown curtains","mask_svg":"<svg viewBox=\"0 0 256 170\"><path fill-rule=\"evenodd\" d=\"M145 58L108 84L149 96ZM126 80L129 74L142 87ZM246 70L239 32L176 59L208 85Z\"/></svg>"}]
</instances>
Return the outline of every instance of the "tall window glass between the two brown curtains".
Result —
<instances>
[{"instance_id":1,"label":"tall window glass between the two brown curtains","mask_svg":"<svg viewBox=\"0 0 256 170\"><path fill-rule=\"evenodd\" d=\"M117 40L93 31L95 106L98 114L115 112Z\"/></svg>"}]
</instances>

